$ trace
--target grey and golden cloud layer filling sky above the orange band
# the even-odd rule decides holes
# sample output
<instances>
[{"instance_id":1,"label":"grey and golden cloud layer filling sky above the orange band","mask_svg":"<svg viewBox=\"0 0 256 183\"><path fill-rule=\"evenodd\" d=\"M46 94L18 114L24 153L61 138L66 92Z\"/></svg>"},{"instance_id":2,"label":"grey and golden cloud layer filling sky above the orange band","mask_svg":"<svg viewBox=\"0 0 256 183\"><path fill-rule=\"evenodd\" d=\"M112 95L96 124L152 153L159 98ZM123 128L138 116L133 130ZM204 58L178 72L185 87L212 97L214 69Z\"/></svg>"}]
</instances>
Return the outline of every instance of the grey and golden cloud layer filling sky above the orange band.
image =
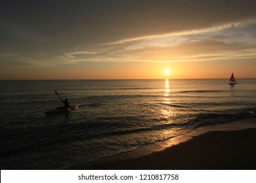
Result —
<instances>
[{"instance_id":1,"label":"grey and golden cloud layer filling sky above the orange band","mask_svg":"<svg viewBox=\"0 0 256 183\"><path fill-rule=\"evenodd\" d=\"M6 1L0 65L253 58L255 9L249 0Z\"/></svg>"}]
</instances>

